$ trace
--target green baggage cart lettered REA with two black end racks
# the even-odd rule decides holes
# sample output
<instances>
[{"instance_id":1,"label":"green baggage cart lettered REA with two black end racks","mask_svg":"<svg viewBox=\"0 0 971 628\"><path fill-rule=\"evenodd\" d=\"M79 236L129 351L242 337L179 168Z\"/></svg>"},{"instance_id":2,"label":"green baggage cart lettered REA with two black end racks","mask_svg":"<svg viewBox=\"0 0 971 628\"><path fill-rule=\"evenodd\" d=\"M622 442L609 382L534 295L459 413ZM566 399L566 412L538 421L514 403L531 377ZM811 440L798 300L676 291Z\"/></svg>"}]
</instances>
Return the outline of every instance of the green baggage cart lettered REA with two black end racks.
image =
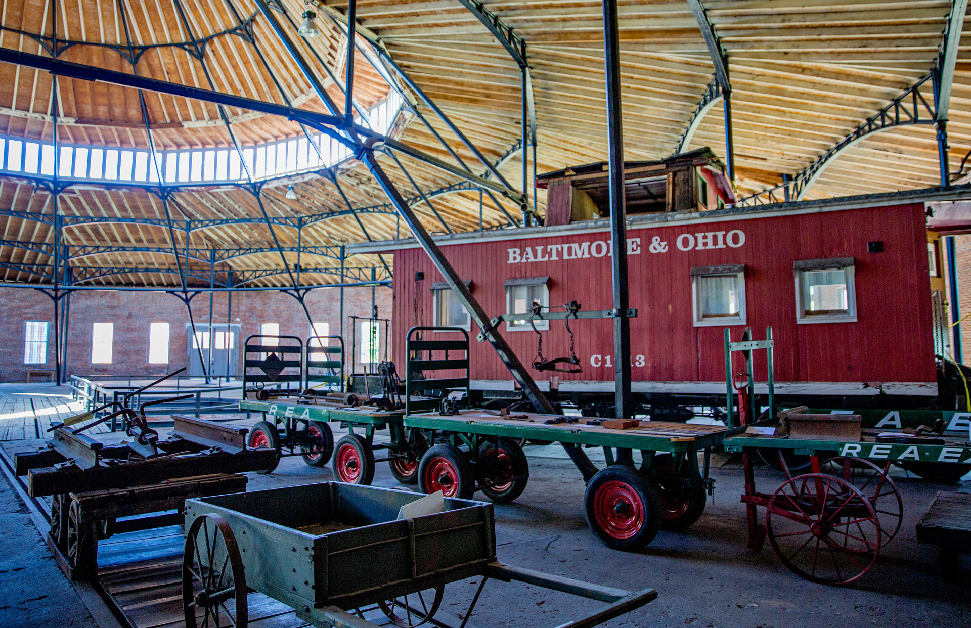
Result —
<instances>
[{"instance_id":1,"label":"green baggage cart lettered REA with two black end racks","mask_svg":"<svg viewBox=\"0 0 971 628\"><path fill-rule=\"evenodd\" d=\"M267 339L277 345L265 345ZM335 476L350 483L370 484L376 464L385 461L398 481L418 481L418 461L427 444L402 426L403 408L361 405L369 400L345 392L340 336L312 336L304 345L293 336L254 335L246 341L246 366L240 410L263 414L250 430L250 446L278 451L277 461L261 473L275 470L281 457L299 455L312 467L333 457ZM299 375L294 373L298 369ZM349 432L336 446L331 421ZM376 444L375 432L384 429L390 432L389 442ZM386 456L376 458L376 450Z\"/></svg>"}]
</instances>

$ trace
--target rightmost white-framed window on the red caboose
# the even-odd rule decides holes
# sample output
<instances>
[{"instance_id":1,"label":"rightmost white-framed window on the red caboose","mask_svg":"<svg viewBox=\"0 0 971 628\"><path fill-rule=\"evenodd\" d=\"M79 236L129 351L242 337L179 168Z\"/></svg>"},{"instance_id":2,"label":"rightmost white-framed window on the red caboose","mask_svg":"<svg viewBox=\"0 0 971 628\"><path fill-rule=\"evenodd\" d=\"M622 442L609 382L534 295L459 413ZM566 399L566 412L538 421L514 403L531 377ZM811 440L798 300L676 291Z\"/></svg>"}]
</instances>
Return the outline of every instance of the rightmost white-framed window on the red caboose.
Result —
<instances>
[{"instance_id":1,"label":"rightmost white-framed window on the red caboose","mask_svg":"<svg viewBox=\"0 0 971 628\"><path fill-rule=\"evenodd\" d=\"M854 259L802 259L793 264L796 322L854 322Z\"/></svg>"}]
</instances>

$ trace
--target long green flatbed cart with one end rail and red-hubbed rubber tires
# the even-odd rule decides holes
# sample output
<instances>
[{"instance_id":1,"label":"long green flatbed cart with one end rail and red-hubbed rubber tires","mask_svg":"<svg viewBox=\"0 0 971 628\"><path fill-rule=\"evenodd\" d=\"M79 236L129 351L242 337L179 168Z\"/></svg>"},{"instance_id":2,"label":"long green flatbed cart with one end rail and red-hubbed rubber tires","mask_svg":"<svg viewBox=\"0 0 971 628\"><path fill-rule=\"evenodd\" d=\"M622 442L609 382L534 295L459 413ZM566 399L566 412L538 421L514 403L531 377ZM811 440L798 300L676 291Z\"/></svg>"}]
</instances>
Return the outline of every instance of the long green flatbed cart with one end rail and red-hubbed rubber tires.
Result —
<instances>
[{"instance_id":1,"label":"long green flatbed cart with one end rail and red-hubbed rubber tires","mask_svg":"<svg viewBox=\"0 0 971 628\"><path fill-rule=\"evenodd\" d=\"M453 331L462 339L423 340L424 331ZM608 429L561 414L502 415L465 409L468 390L468 335L458 328L412 329L406 339L409 391L451 389L462 403L443 403L438 412L408 408L404 425L437 443L421 457L423 492L471 498L479 490L495 503L519 497L529 478L521 444L527 440L561 444L586 481L586 519L605 545L633 550L648 545L660 527L683 529L705 508L714 489L709 479L712 446L726 434L718 425L649 421L630 429ZM427 379L429 372L444 375ZM444 372L444 373L443 373ZM464 374L464 377L461 376ZM447 400L449 401L449 400ZM454 401L458 401L457 399ZM599 422L599 421L594 421ZM605 469L598 469L585 447L603 447ZM635 467L634 450L641 452ZM699 455L702 458L699 461Z\"/></svg>"}]
</instances>

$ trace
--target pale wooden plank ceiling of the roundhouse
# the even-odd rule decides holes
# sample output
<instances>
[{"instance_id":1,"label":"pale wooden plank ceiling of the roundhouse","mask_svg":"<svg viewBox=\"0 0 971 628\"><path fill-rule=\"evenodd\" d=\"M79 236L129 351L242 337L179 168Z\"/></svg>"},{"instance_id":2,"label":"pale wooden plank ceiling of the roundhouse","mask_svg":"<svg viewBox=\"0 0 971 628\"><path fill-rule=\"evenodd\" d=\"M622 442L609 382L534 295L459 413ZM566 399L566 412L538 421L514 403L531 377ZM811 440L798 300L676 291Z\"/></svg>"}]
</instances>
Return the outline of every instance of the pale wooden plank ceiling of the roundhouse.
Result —
<instances>
[{"instance_id":1,"label":"pale wooden plank ceiling of the roundhouse","mask_svg":"<svg viewBox=\"0 0 971 628\"><path fill-rule=\"evenodd\" d=\"M340 13L347 2L330 0ZM737 184L742 195L794 176L815 157L878 112L934 66L951 11L950 0L705 0L715 32L729 60ZM300 21L305 9L284 0L287 14ZM486 7L527 44L538 128L538 172L605 159L603 35L601 4L596 1L492 1ZM56 17L54 11L56 9ZM298 40L331 97L343 103L341 85L327 76L314 52L339 79L345 71L346 38L318 8L320 36ZM620 50L624 143L628 159L659 159L672 154L713 77L713 64L698 23L685 1L620 0ZM495 161L519 139L520 75L517 64L485 26L457 0L360 0L359 24L380 36L386 50L470 140ZM59 57L142 76L184 83L268 102L325 112L311 84L299 72L279 39L251 0L88 0L57 3L10 0L0 17L0 47L50 54L50 38L59 40ZM252 25L252 42L240 25ZM43 41L39 37L46 37ZM202 61L186 42L207 40ZM971 149L971 46L962 42L949 112L952 168ZM308 48L308 46L312 47ZM116 48L111 48L116 47ZM120 48L118 48L120 47ZM137 56L137 66L128 59ZM125 57L128 57L126 59ZM381 76L360 55L354 66L354 93L363 107L380 102L388 91ZM145 92L146 120L137 90L61 79L51 97L49 74L28 68L0 67L0 133L50 142L52 115L66 118L58 140L122 148L149 147L146 121L157 149L232 147L218 108L195 101ZM930 82L925 97L933 102ZM55 109L56 108L56 109ZM419 111L435 132L477 173L484 172L468 149L424 106ZM226 108L236 141L243 146L302 137L300 127L275 116ZM452 160L429 129L412 115L398 125L400 140L437 157ZM701 121L689 147L710 146L724 153L720 105ZM385 169L405 196L417 194L397 166L382 157ZM459 180L402 157L424 191ZM531 166L530 166L531 170ZM519 187L519 155L501 167ZM296 184L298 198L285 199L285 185ZM359 163L340 170L343 191L353 208L385 205L377 183ZM937 146L932 126L897 127L868 136L841 155L820 176L807 198L885 192L936 185ZM531 193L531 190L529 190ZM540 190L542 212L544 192ZM469 190L439 196L435 209L454 231L478 228L480 195ZM263 201L271 216L343 213L305 227L300 242L330 246L406 236L385 208L354 217L333 182L302 175L271 183ZM0 209L53 214L53 199L32 182L0 177ZM173 194L176 219L260 216L252 194L235 186L200 186ZM432 231L441 222L420 205ZM513 215L518 210L507 203ZM161 200L141 189L74 186L60 194L62 215L164 218ZM506 217L486 198L485 226ZM50 225L0 216L3 240L51 244ZM365 235L364 230L367 234ZM295 247L295 229L275 228L281 245ZM175 234L184 248L184 234ZM64 244L82 246L171 247L168 231L158 225L99 223L66 227ZM193 232L190 248L270 248L269 229L255 224L219 226ZM286 253L296 264L296 254ZM24 248L0 248L0 263L50 264L49 255ZM175 268L173 255L111 252L91 255L75 265ZM257 253L219 264L238 271L280 268L276 253ZM337 260L304 254L307 269L332 269ZM351 265L381 265L377 259L352 259ZM190 267L199 267L196 262ZM2 281L41 281L29 272L6 270ZM173 275L129 274L105 283L169 284ZM253 281L284 285L285 275ZM305 276L305 283L337 281Z\"/></svg>"}]
</instances>

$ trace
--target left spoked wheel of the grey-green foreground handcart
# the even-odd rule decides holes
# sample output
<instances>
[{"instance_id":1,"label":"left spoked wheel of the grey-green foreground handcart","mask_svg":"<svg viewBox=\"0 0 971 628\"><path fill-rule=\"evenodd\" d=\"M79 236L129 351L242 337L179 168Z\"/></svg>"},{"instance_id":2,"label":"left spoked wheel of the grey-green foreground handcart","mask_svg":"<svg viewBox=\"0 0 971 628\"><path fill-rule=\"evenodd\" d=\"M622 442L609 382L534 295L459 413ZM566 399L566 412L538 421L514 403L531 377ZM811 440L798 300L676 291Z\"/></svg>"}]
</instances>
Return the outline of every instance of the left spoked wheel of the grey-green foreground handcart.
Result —
<instances>
[{"instance_id":1,"label":"left spoked wheel of the grey-green foreground handcart","mask_svg":"<svg viewBox=\"0 0 971 628\"><path fill-rule=\"evenodd\" d=\"M197 517L183 553L185 628L245 628L246 574L236 537L218 514Z\"/></svg>"}]
</instances>

